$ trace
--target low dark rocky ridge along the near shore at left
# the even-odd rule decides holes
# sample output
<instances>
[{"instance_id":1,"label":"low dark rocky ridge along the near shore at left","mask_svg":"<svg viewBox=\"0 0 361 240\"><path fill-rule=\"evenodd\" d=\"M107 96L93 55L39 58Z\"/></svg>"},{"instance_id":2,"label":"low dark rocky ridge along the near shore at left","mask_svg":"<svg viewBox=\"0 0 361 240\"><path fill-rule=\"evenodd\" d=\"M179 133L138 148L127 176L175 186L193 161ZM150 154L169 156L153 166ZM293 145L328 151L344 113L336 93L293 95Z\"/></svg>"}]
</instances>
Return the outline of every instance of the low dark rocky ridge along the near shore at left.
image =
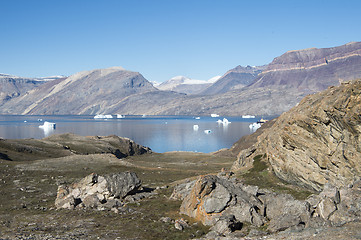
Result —
<instances>
[{"instance_id":1,"label":"low dark rocky ridge along the near shore at left","mask_svg":"<svg viewBox=\"0 0 361 240\"><path fill-rule=\"evenodd\" d=\"M112 136L84 137L72 133L44 139L0 139L0 159L29 161L70 155L111 153L117 158L151 153L152 150L129 138Z\"/></svg>"}]
</instances>

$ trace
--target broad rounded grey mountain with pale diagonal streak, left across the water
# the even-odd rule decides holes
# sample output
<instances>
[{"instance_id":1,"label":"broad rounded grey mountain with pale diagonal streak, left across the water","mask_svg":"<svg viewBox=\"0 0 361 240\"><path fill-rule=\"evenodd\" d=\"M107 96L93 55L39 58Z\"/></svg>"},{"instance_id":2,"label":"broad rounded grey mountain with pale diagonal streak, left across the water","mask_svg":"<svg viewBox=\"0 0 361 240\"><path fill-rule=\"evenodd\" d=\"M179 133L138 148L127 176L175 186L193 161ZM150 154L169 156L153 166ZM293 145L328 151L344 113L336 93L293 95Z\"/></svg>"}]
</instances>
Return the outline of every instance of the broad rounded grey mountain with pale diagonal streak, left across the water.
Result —
<instances>
[{"instance_id":1,"label":"broad rounded grey mountain with pale diagonal streak, left across the water","mask_svg":"<svg viewBox=\"0 0 361 240\"><path fill-rule=\"evenodd\" d=\"M20 114L107 113L129 95L156 90L140 73L113 67L47 82L1 109L3 113Z\"/></svg>"}]
</instances>

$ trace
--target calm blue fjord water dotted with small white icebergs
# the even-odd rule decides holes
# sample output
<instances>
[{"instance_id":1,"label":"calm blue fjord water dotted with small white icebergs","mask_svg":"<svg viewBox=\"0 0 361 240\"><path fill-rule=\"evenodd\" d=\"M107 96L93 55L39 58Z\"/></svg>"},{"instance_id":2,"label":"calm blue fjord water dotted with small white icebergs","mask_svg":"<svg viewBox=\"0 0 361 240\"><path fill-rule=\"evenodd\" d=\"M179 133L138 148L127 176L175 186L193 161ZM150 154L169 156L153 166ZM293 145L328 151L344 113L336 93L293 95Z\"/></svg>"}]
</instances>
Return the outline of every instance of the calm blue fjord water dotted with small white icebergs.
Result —
<instances>
[{"instance_id":1,"label":"calm blue fjord water dotted with small white icebergs","mask_svg":"<svg viewBox=\"0 0 361 240\"><path fill-rule=\"evenodd\" d=\"M44 138L52 134L75 133L83 136L118 135L150 147L155 152L214 152L229 148L242 136L252 133L250 123L260 118L226 117L231 123L217 123L223 116L126 116L94 119L93 116L0 116L2 138ZM55 129L41 129L44 121L56 123ZM194 129L198 125L198 130ZM205 133L205 130L211 130Z\"/></svg>"}]
</instances>

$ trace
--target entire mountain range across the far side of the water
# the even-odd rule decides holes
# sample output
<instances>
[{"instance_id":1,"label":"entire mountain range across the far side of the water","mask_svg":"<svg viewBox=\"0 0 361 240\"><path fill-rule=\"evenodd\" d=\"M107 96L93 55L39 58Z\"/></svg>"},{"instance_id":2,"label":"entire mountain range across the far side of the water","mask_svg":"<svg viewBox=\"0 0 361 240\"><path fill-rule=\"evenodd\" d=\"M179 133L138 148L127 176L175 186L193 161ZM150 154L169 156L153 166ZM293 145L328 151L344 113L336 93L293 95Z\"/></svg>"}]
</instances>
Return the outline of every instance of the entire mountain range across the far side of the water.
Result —
<instances>
[{"instance_id":1,"label":"entire mountain range across the far side of the water","mask_svg":"<svg viewBox=\"0 0 361 240\"><path fill-rule=\"evenodd\" d=\"M176 77L156 88L121 67L53 80L2 74L0 113L279 115L308 94L357 78L361 42L289 51L265 66L237 66L213 84Z\"/></svg>"}]
</instances>

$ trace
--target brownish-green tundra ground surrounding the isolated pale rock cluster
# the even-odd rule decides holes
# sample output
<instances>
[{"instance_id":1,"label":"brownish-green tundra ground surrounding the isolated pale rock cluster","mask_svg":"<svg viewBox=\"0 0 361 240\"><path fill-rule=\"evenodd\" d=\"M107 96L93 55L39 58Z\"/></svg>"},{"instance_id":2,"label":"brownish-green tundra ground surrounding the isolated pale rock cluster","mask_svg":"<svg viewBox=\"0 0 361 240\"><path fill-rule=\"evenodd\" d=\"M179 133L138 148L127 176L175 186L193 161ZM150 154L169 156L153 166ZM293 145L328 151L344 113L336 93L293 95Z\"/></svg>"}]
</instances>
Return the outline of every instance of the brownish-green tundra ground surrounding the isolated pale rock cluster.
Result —
<instances>
[{"instance_id":1,"label":"brownish-green tundra ground surrounding the isolated pale rock cluster","mask_svg":"<svg viewBox=\"0 0 361 240\"><path fill-rule=\"evenodd\" d=\"M173 152L119 160L110 154L66 156L35 161L0 160L0 233L3 238L190 239L208 227L179 215L171 201L174 181L230 168L234 159L211 154ZM86 175L133 171L143 186L169 186L152 198L128 204L124 213L56 210L57 186ZM175 229L161 217L184 218L190 227Z\"/></svg>"}]
</instances>

